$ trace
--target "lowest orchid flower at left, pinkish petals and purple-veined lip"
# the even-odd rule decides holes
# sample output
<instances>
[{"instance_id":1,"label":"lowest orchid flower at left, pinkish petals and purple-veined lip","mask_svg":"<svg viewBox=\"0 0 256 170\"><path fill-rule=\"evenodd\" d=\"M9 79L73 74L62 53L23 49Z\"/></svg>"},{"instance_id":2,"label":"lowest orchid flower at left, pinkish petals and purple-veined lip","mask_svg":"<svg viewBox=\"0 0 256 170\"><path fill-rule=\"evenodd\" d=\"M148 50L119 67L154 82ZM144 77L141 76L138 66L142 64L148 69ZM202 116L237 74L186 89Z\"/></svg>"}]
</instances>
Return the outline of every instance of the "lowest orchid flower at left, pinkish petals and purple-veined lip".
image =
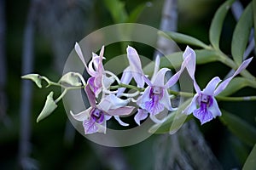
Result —
<instances>
[{"instance_id":1,"label":"lowest orchid flower at left, pinkish petals and purple-veined lip","mask_svg":"<svg viewBox=\"0 0 256 170\"><path fill-rule=\"evenodd\" d=\"M90 86L85 87L90 107L74 115L72 111L70 114L77 121L83 122L84 133L106 133L107 121L114 116L114 118L122 126L128 124L122 122L119 116L126 116L134 109L133 106L125 106L130 102L130 99L119 99L113 94L105 96L102 101L96 105L96 95L92 92Z\"/></svg>"}]
</instances>

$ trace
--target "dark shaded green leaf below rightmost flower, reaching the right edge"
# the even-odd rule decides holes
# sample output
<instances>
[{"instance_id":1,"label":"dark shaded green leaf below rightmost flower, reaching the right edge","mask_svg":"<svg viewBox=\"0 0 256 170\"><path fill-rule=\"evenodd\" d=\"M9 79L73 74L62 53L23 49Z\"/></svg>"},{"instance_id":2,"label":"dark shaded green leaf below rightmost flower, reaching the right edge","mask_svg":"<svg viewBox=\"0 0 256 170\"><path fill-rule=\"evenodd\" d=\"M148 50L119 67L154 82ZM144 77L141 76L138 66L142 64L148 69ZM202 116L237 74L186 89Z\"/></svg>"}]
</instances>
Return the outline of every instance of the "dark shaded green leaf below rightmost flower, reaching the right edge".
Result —
<instances>
[{"instance_id":1,"label":"dark shaded green leaf below rightmost flower, reaching the right edge","mask_svg":"<svg viewBox=\"0 0 256 170\"><path fill-rule=\"evenodd\" d=\"M256 128L243 121L239 116L230 114L227 111L222 111L223 116L220 116L223 122L232 133L234 133L241 141L253 146L256 143Z\"/></svg>"}]
</instances>

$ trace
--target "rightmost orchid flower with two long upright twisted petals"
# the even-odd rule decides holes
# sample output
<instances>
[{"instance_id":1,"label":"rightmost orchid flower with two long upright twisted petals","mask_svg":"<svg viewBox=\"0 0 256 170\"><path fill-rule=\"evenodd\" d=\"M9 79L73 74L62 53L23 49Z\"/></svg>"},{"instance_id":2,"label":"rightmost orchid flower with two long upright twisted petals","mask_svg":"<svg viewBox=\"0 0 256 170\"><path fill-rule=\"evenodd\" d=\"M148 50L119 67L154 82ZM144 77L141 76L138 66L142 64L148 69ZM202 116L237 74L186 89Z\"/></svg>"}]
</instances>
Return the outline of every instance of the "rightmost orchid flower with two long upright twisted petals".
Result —
<instances>
[{"instance_id":1,"label":"rightmost orchid flower with two long upright twisted petals","mask_svg":"<svg viewBox=\"0 0 256 170\"><path fill-rule=\"evenodd\" d=\"M214 97L220 94L224 88L228 86L231 79L243 71L253 58L243 61L233 76L227 78L223 82L221 82L219 77L214 77L208 82L207 87L201 90L195 81L195 52L189 47L186 48L186 53L183 55L183 58L188 56L191 56L192 59L191 62L189 62L189 65L187 65L187 70L194 82L196 94L183 113L187 115L193 113L193 115L200 120L201 124L204 124L211 121L216 116L221 116L221 111L219 110L218 103Z\"/></svg>"}]
</instances>

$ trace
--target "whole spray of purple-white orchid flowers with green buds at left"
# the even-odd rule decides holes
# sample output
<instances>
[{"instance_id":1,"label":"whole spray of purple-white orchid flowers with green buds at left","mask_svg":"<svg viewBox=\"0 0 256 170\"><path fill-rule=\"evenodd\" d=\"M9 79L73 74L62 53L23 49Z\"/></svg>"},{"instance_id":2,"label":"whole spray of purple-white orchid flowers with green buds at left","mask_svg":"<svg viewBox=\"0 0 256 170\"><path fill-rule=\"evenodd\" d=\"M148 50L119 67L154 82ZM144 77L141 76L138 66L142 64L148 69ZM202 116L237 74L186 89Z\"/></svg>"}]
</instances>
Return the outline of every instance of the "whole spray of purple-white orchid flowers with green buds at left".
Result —
<instances>
[{"instance_id":1,"label":"whole spray of purple-white orchid flowers with green buds at left","mask_svg":"<svg viewBox=\"0 0 256 170\"><path fill-rule=\"evenodd\" d=\"M84 127L84 133L106 133L107 122L112 117L119 122L121 126L129 126L123 122L120 116L131 116L135 113L134 121L140 126L141 122L150 117L155 123L162 123L166 118L159 118L158 115L164 110L172 113L177 108L172 105L172 94L168 89L176 84L184 70L189 72L189 76L194 83L195 94L193 99L182 111L183 114L193 114L201 124L211 121L222 113L218 107L216 96L226 88L233 77L236 77L251 62L252 58L244 60L237 68L236 72L229 78L221 81L219 77L213 77L208 82L207 87L201 90L195 80L196 54L192 48L187 48L183 52L183 62L179 71L176 71L172 77L166 80L168 68L160 68L160 56L154 60L154 73L152 76L145 75L137 50L128 46L126 48L129 66L123 71L119 79L110 71L105 71L103 66L104 46L100 54L92 54L92 59L87 64L84 55L79 46L75 44L76 54L84 64L84 68L90 75L88 80L78 72L68 72L61 77L59 82L51 82L47 77L41 77L38 74L29 74L22 78L31 79L39 88L42 87L41 81L44 80L48 86L55 85L64 88L63 93L58 99L53 99L51 92L46 100L43 111L38 116L38 122L49 116L55 108L56 103L67 93L68 90L84 88L90 107L79 113L70 111L71 116ZM136 85L131 85L134 79ZM116 85L117 84L117 85ZM126 93L126 89L135 90L134 93ZM135 106L131 106L133 103Z\"/></svg>"}]
</instances>

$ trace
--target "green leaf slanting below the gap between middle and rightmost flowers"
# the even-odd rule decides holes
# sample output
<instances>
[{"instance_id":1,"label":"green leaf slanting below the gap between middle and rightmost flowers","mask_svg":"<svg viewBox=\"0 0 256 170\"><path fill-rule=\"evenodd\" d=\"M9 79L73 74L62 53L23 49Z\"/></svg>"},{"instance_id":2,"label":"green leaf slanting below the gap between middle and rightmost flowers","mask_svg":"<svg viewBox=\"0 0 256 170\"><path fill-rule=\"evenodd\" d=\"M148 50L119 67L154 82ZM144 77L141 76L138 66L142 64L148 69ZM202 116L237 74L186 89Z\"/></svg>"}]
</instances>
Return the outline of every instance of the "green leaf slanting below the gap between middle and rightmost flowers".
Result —
<instances>
[{"instance_id":1,"label":"green leaf slanting below the gap between middle and rightmost flowers","mask_svg":"<svg viewBox=\"0 0 256 170\"><path fill-rule=\"evenodd\" d=\"M177 131L179 127L183 125L185 121L185 117L187 115L183 114L182 111L189 105L191 99L187 99L183 102L182 105L179 105L177 111L172 111L168 116L166 116L166 121L161 124L154 124L152 127L149 128L149 133L173 133L175 130ZM174 124L173 124L174 123ZM171 128L170 128L171 127Z\"/></svg>"}]
</instances>

